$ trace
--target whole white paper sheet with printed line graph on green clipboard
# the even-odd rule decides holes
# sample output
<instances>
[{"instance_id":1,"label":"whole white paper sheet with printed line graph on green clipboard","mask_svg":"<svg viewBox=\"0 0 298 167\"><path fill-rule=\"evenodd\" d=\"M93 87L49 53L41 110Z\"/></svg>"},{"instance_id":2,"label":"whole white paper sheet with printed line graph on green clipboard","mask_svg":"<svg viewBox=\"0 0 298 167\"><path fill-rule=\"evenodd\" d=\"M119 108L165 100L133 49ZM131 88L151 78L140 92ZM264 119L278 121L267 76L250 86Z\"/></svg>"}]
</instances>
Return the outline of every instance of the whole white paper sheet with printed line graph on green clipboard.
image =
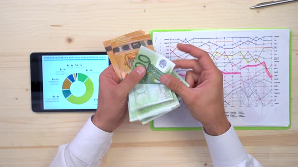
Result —
<instances>
[{"instance_id":1,"label":"whole white paper sheet with printed line graph on green clipboard","mask_svg":"<svg viewBox=\"0 0 298 167\"><path fill-rule=\"evenodd\" d=\"M153 32L154 49L171 60L194 59L178 43L205 50L223 74L225 113L235 126L289 124L289 30ZM185 77L188 69L175 69ZM197 126L186 105L155 123ZM192 121L191 121L192 120Z\"/></svg>"}]
</instances>

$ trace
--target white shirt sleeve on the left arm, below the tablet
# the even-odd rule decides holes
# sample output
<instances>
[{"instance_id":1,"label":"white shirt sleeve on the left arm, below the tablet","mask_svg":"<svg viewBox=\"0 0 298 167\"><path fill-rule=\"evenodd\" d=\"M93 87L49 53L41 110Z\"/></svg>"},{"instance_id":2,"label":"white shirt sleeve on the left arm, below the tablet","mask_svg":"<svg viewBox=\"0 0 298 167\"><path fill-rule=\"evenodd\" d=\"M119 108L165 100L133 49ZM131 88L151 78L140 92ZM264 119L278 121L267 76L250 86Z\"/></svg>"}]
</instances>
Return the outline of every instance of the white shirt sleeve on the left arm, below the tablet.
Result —
<instances>
[{"instance_id":1,"label":"white shirt sleeve on the left arm, below the tablet","mask_svg":"<svg viewBox=\"0 0 298 167\"><path fill-rule=\"evenodd\" d=\"M50 166L99 166L112 143L113 133L97 128L88 119L69 144L60 145Z\"/></svg>"}]
</instances>

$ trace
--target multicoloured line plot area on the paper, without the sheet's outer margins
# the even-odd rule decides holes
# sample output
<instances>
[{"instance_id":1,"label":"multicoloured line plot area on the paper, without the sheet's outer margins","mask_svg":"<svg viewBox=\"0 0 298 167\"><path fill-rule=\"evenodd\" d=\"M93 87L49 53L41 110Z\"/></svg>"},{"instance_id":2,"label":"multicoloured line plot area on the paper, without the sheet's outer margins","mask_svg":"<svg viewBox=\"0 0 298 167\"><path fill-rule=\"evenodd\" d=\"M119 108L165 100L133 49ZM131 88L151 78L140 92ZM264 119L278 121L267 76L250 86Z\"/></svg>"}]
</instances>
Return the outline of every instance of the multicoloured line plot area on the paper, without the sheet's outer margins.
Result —
<instances>
[{"instance_id":1,"label":"multicoloured line plot area on the paper, without the sheet's outer margins","mask_svg":"<svg viewBox=\"0 0 298 167\"><path fill-rule=\"evenodd\" d=\"M158 51L171 60L192 59L177 49L178 43L205 50L223 73L225 106L274 105L274 36L184 37L159 41ZM185 76L185 69L177 69Z\"/></svg>"}]
</instances>

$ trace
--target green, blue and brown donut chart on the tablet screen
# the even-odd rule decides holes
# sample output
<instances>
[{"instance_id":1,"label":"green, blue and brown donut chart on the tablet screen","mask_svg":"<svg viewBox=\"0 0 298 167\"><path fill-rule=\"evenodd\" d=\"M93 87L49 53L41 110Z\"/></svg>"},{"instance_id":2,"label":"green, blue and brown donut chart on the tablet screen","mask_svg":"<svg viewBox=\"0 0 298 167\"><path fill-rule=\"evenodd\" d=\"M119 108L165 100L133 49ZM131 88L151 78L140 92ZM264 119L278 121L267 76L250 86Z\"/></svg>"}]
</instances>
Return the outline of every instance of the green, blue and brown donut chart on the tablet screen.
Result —
<instances>
[{"instance_id":1,"label":"green, blue and brown donut chart on the tablet screen","mask_svg":"<svg viewBox=\"0 0 298 167\"><path fill-rule=\"evenodd\" d=\"M62 93L65 99L77 105L88 102L93 95L93 91L92 80L82 73L68 75L62 85Z\"/></svg>"}]
</instances>

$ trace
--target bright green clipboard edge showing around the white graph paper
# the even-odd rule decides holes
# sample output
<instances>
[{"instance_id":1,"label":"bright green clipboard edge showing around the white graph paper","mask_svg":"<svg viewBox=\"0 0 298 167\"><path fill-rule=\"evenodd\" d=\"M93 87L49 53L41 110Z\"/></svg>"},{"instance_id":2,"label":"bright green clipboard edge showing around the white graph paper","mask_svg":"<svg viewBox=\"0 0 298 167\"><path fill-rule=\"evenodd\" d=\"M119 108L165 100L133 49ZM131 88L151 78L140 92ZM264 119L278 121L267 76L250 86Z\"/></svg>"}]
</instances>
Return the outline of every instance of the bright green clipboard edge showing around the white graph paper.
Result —
<instances>
[{"instance_id":1,"label":"bright green clipboard edge showing around the white graph paper","mask_svg":"<svg viewBox=\"0 0 298 167\"><path fill-rule=\"evenodd\" d=\"M243 28L243 29L155 29L150 32L153 38L154 32L177 32L177 31L243 31L243 30L274 30L274 29L289 29L289 28ZM153 39L152 39L153 40ZM291 71L292 71L292 32L290 31L289 42L289 126L259 126L259 127L234 127L236 130L286 130L291 126ZM202 130L202 127L173 127L173 128L156 128L154 121L150 122L150 128L154 131L170 131L170 130Z\"/></svg>"}]
</instances>

